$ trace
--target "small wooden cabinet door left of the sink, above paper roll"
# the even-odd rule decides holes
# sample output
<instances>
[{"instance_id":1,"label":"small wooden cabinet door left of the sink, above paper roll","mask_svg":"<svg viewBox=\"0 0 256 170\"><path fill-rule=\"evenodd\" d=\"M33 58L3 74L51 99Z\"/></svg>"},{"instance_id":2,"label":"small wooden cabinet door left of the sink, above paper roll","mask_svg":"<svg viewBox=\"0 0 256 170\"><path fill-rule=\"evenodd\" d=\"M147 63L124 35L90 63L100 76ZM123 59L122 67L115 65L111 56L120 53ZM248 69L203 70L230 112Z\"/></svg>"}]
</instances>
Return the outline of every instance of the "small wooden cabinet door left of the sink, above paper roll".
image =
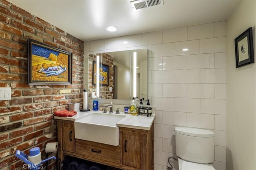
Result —
<instances>
[{"instance_id":1,"label":"small wooden cabinet door left of the sink, above paper roll","mask_svg":"<svg viewBox=\"0 0 256 170\"><path fill-rule=\"evenodd\" d=\"M62 123L62 149L74 152L74 123Z\"/></svg>"}]
</instances>

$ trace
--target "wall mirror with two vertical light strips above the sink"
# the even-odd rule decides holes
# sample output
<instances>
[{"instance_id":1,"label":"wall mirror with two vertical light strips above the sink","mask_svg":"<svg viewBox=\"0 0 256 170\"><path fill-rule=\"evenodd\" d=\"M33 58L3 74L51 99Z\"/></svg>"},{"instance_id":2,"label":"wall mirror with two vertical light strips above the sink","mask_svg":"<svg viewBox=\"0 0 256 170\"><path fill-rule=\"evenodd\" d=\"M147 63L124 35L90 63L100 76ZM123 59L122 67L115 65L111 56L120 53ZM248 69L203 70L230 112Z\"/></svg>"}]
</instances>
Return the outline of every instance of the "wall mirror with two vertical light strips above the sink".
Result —
<instances>
[{"instance_id":1,"label":"wall mirror with two vertical light strips above the sink","mask_svg":"<svg viewBox=\"0 0 256 170\"><path fill-rule=\"evenodd\" d=\"M88 56L89 98L130 100L138 96L146 99L147 86L148 49Z\"/></svg>"}]
</instances>

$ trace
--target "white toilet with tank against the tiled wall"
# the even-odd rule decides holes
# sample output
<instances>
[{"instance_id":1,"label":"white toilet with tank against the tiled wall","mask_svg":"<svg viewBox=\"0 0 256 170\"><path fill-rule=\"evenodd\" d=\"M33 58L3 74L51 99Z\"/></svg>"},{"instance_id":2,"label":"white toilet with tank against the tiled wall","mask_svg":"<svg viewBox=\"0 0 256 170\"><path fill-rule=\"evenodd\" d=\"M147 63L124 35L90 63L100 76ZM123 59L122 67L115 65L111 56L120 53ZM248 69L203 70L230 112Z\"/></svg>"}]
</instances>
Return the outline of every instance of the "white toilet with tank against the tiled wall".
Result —
<instances>
[{"instance_id":1,"label":"white toilet with tank against the tiled wall","mask_svg":"<svg viewBox=\"0 0 256 170\"><path fill-rule=\"evenodd\" d=\"M179 170L215 170L214 133L192 127L175 127Z\"/></svg>"}]
</instances>

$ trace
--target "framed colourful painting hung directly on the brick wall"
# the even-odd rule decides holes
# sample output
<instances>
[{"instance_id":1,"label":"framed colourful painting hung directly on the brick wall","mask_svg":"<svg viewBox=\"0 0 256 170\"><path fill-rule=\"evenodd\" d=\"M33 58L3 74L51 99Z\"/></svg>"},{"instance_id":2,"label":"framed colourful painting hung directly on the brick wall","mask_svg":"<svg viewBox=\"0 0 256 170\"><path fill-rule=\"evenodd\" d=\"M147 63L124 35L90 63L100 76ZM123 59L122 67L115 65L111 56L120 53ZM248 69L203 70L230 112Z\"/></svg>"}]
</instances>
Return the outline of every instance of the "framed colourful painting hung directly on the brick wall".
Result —
<instances>
[{"instance_id":1,"label":"framed colourful painting hung directly on the brick wall","mask_svg":"<svg viewBox=\"0 0 256 170\"><path fill-rule=\"evenodd\" d=\"M72 84L72 53L28 39L28 84Z\"/></svg>"}]
</instances>

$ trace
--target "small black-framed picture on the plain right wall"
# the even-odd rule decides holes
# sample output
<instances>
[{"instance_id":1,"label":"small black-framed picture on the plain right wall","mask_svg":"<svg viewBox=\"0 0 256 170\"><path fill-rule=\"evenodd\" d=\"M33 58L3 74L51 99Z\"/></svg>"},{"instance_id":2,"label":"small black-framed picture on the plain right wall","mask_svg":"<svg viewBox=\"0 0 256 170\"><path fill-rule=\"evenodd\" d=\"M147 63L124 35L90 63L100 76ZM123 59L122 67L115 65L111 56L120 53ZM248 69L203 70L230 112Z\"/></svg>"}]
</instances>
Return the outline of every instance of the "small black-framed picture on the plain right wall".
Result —
<instances>
[{"instance_id":1,"label":"small black-framed picture on the plain right wall","mask_svg":"<svg viewBox=\"0 0 256 170\"><path fill-rule=\"evenodd\" d=\"M236 68L254 63L252 27L235 39Z\"/></svg>"}]
</instances>

